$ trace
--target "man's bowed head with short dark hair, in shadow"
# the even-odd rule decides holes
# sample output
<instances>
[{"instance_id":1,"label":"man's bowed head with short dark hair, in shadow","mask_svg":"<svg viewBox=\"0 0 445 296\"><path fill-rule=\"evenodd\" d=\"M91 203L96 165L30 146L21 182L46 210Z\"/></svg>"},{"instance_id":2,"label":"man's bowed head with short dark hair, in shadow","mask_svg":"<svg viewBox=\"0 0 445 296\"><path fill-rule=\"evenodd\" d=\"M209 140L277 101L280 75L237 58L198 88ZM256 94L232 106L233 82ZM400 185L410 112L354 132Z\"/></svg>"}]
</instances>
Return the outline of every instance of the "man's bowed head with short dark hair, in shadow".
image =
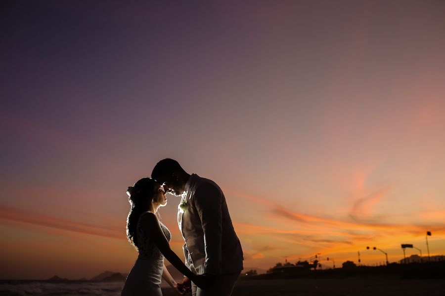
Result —
<instances>
[{"instance_id":1,"label":"man's bowed head with short dark hair, in shadow","mask_svg":"<svg viewBox=\"0 0 445 296\"><path fill-rule=\"evenodd\" d=\"M165 191L176 196L184 192L189 177L190 175L182 169L178 161L170 158L159 161L151 172L151 178L164 184Z\"/></svg>"}]
</instances>

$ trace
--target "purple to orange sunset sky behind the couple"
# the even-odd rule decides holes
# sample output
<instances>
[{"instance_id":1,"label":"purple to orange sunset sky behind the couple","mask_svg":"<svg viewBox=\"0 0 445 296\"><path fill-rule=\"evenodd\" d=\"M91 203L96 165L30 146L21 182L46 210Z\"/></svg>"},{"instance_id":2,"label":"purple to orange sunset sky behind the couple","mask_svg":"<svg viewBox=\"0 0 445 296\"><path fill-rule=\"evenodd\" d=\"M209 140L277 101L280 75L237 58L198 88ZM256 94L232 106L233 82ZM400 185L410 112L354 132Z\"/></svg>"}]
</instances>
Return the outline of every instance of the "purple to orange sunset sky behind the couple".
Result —
<instances>
[{"instance_id":1,"label":"purple to orange sunset sky behind the couple","mask_svg":"<svg viewBox=\"0 0 445 296\"><path fill-rule=\"evenodd\" d=\"M0 279L128 273L125 191L166 157L247 268L445 255L444 1L147 2L1 3Z\"/></svg>"}]
</instances>

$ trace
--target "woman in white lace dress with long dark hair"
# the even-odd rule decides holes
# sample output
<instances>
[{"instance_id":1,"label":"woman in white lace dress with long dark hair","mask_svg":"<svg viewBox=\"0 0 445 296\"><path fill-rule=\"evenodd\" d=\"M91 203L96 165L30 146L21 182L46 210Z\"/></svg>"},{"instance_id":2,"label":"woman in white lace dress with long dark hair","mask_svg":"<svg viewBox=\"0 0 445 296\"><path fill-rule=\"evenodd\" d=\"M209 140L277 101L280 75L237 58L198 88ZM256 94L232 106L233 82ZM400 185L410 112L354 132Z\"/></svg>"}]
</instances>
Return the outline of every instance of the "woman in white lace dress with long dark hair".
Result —
<instances>
[{"instance_id":1,"label":"woman in white lace dress with long dark hair","mask_svg":"<svg viewBox=\"0 0 445 296\"><path fill-rule=\"evenodd\" d=\"M205 276L191 272L170 249L170 231L156 216L158 208L167 204L164 188L153 179L143 178L128 187L127 194L131 204L127 237L139 256L127 276L121 296L162 296L161 276L179 295L184 295L184 287L165 267L164 257L198 287L206 286Z\"/></svg>"}]
</instances>

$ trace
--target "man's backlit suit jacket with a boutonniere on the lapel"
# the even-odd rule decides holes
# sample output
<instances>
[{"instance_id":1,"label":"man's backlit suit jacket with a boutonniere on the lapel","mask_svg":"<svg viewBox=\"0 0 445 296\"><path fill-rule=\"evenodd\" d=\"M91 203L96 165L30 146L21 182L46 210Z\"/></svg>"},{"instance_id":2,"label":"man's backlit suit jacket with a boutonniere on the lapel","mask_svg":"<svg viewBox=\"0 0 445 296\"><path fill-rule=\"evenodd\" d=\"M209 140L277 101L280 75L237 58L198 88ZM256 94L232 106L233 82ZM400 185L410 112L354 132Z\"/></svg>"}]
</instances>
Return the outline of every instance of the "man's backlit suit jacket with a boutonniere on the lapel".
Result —
<instances>
[{"instance_id":1,"label":"man's backlit suit jacket with a boutonniere on the lapel","mask_svg":"<svg viewBox=\"0 0 445 296\"><path fill-rule=\"evenodd\" d=\"M227 274L243 269L243 251L221 188L213 181L190 176L178 207L178 226L185 244L185 265L197 274ZM183 212L183 213L181 213Z\"/></svg>"}]
</instances>

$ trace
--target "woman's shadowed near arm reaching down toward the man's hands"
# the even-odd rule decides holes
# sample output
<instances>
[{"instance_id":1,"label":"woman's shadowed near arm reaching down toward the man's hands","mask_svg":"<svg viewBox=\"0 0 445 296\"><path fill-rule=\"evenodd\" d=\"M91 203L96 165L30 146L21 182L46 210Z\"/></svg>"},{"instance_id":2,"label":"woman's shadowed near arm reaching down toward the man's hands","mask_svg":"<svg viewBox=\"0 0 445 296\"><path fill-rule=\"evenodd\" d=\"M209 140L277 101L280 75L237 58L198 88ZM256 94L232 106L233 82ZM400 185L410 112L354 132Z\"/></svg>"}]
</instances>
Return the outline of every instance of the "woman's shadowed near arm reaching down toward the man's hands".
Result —
<instances>
[{"instance_id":1,"label":"woman's shadowed near arm reaching down toward the man's hands","mask_svg":"<svg viewBox=\"0 0 445 296\"><path fill-rule=\"evenodd\" d=\"M153 239L154 244L158 247L159 251L161 251L162 255L164 255L164 257L169 260L179 272L192 280L192 282L197 280L197 275L191 272L182 260L179 259L178 255L176 255L170 248L169 241L165 237L155 214L147 212L140 217L140 220L142 230L147 232L150 238ZM166 268L164 268L164 270L166 270Z\"/></svg>"}]
</instances>

